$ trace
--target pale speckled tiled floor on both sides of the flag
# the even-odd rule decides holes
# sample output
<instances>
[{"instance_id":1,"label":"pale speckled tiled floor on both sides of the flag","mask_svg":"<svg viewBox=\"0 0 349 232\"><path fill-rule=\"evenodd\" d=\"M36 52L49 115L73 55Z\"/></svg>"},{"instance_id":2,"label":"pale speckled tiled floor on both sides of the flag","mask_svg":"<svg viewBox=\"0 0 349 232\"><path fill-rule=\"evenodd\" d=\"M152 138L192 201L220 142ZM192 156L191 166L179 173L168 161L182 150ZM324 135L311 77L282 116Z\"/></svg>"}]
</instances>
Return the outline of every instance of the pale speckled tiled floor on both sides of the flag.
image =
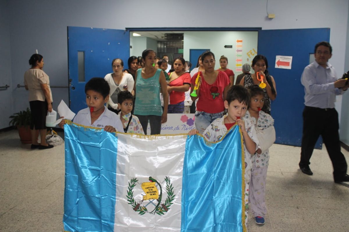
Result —
<instances>
[{"instance_id":1,"label":"pale speckled tiled floor on both sides of the flag","mask_svg":"<svg viewBox=\"0 0 349 232\"><path fill-rule=\"evenodd\" d=\"M0 134L0 148L0 231L64 231L64 145L30 150L12 130ZM300 172L299 153L299 147L270 148L266 224L250 217L249 232L349 231L349 185L333 182L326 149L313 153L313 176Z\"/></svg>"}]
</instances>

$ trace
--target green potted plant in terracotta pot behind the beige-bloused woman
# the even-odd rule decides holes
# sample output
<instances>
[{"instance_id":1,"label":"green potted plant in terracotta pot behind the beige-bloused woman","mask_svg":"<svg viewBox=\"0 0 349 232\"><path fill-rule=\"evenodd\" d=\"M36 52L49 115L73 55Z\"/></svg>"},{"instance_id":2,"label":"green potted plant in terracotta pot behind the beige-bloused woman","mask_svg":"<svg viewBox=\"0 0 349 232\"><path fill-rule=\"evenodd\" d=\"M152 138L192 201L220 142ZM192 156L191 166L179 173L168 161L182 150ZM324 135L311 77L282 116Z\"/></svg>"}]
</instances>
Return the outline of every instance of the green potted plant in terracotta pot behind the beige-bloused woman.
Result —
<instances>
[{"instance_id":1,"label":"green potted plant in terracotta pot behind the beige-bloused woman","mask_svg":"<svg viewBox=\"0 0 349 232\"><path fill-rule=\"evenodd\" d=\"M14 113L10 116L11 121L9 125L17 126L18 134L20 135L21 142L23 144L31 144L31 133L30 133L30 123L31 123L31 112L29 108L27 110L22 110L18 113Z\"/></svg>"}]
</instances>

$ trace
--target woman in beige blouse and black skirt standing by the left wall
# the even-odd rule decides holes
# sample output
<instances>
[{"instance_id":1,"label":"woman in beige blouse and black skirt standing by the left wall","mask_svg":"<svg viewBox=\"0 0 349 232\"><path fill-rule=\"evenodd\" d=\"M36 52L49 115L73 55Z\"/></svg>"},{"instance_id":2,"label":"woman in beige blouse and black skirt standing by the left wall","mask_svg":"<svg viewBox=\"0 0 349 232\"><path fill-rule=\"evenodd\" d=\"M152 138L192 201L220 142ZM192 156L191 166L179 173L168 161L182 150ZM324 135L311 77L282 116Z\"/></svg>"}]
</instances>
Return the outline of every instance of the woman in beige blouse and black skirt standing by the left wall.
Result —
<instances>
[{"instance_id":1,"label":"woman in beige blouse and black skirt standing by the left wall","mask_svg":"<svg viewBox=\"0 0 349 232\"><path fill-rule=\"evenodd\" d=\"M49 76L42 70L44 59L42 55L33 54L29 59L31 68L24 73L24 86L29 90L29 105L32 116L31 149L52 148L45 141L46 137L46 114L52 112L52 93ZM38 137L40 133L40 143Z\"/></svg>"}]
</instances>

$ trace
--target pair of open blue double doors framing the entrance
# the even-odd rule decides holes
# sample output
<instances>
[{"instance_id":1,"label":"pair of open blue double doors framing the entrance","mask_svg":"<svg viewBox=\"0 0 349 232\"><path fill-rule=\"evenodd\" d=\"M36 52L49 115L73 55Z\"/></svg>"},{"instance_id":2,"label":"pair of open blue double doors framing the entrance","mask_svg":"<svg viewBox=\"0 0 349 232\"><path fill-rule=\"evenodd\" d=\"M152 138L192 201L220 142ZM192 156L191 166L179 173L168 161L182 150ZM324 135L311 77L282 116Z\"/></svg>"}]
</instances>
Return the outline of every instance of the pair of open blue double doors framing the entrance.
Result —
<instances>
[{"instance_id":1,"label":"pair of open blue double doors framing the entrance","mask_svg":"<svg viewBox=\"0 0 349 232\"><path fill-rule=\"evenodd\" d=\"M309 64L315 44L329 41L329 33L328 28L258 32L258 54L268 58L268 70L273 75L277 88L277 98L272 102L276 143L300 146L304 108L304 88L300 84L300 76L304 67ZM191 53L191 62L195 66L198 53L202 52L192 49ZM292 56L292 69L275 68L277 55ZM92 77L104 77L111 73L111 62L114 58L121 58L127 68L128 57L129 31L69 26L70 109L77 113L87 107L84 93L86 82ZM319 139L316 148L321 148L321 144Z\"/></svg>"}]
</instances>

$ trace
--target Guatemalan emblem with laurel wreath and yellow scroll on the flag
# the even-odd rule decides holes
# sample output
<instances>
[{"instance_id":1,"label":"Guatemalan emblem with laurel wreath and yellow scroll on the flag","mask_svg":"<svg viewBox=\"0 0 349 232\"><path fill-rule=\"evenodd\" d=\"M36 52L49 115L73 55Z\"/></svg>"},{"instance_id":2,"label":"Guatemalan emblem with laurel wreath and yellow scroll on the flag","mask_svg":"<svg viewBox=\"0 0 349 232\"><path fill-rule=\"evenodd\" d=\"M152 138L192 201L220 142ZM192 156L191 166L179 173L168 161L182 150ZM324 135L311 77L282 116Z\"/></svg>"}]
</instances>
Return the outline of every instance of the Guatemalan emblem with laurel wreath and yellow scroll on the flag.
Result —
<instances>
[{"instance_id":1,"label":"Guatemalan emblem with laurel wreath and yellow scroll on the flag","mask_svg":"<svg viewBox=\"0 0 349 232\"><path fill-rule=\"evenodd\" d=\"M140 215L145 213L165 215L165 213L171 209L170 207L176 195L173 193L173 186L170 178L166 176L162 183L164 184L164 182L166 183L166 199L163 199L165 196L163 196L161 183L155 178L150 176L149 182L142 182L140 187L137 187L139 180L137 178L132 178L131 181L128 182L126 195L128 204Z\"/></svg>"}]
</instances>

